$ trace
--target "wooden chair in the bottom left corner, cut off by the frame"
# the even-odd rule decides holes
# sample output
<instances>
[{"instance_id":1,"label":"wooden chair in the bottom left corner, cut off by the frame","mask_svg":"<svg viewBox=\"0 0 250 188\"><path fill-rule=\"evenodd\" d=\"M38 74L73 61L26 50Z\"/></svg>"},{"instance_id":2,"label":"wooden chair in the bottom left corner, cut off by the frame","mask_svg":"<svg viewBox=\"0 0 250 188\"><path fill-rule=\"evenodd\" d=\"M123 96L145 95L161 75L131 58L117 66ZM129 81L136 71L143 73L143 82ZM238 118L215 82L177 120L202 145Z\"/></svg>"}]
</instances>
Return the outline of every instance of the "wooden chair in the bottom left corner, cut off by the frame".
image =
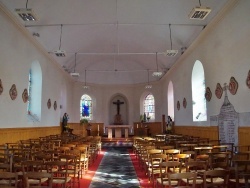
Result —
<instances>
[{"instance_id":1,"label":"wooden chair in the bottom left corner, cut off by the frame","mask_svg":"<svg viewBox=\"0 0 250 188\"><path fill-rule=\"evenodd\" d=\"M14 172L0 172L0 187L13 188L18 186L18 175Z\"/></svg>"}]
</instances>

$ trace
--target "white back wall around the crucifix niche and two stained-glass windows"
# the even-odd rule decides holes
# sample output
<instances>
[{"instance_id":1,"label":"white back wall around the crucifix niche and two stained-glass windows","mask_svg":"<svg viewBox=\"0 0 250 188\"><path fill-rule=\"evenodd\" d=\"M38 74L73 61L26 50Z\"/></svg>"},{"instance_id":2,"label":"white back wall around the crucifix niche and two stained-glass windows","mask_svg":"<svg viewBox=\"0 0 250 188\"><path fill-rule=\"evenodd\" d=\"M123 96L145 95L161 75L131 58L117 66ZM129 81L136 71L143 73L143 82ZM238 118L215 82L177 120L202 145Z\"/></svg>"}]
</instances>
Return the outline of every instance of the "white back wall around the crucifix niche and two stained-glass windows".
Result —
<instances>
[{"instance_id":1,"label":"white back wall around the crucifix niche and two stained-glass windows","mask_svg":"<svg viewBox=\"0 0 250 188\"><path fill-rule=\"evenodd\" d=\"M135 121L140 121L140 97L147 91L143 85L90 85L89 89L83 89L83 84L76 82L74 85L74 102L73 102L73 122L79 122L79 107L80 99L83 94L88 94L94 100L93 106L93 121L103 122L105 125L110 124L110 102L116 94L122 94L128 100L128 124L133 124ZM159 84L153 84L153 89L150 90L155 97L156 106L161 106L161 87ZM122 106L121 106L122 108ZM161 121L161 107L156 109L156 121Z\"/></svg>"}]
</instances>

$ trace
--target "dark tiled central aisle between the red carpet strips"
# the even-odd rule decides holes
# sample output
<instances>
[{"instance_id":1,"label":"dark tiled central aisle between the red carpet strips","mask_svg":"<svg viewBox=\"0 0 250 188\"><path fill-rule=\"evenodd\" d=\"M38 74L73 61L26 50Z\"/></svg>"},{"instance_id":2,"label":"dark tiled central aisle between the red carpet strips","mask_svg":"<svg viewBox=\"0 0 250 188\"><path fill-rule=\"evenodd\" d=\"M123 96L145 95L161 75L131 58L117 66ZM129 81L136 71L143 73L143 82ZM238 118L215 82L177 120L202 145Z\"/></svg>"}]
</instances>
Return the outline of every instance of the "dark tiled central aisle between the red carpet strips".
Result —
<instances>
[{"instance_id":1,"label":"dark tiled central aisle between the red carpet strips","mask_svg":"<svg viewBox=\"0 0 250 188\"><path fill-rule=\"evenodd\" d=\"M138 188L139 182L128 148L107 147L90 188Z\"/></svg>"}]
</instances>

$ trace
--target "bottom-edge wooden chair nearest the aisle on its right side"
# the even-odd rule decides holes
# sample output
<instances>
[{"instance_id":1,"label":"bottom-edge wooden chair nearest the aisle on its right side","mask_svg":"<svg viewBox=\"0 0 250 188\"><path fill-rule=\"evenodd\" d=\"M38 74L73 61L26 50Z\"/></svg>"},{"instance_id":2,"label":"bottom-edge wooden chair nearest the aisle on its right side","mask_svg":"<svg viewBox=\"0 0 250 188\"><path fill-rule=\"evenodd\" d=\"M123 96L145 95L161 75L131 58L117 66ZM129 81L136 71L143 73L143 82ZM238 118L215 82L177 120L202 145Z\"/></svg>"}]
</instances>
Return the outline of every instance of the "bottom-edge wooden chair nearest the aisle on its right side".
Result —
<instances>
[{"instance_id":1,"label":"bottom-edge wooden chair nearest the aisle on its right side","mask_svg":"<svg viewBox=\"0 0 250 188\"><path fill-rule=\"evenodd\" d=\"M196 177L197 174L194 172L168 173L169 188L195 188ZM187 182L186 185L183 185L183 180Z\"/></svg>"}]
</instances>

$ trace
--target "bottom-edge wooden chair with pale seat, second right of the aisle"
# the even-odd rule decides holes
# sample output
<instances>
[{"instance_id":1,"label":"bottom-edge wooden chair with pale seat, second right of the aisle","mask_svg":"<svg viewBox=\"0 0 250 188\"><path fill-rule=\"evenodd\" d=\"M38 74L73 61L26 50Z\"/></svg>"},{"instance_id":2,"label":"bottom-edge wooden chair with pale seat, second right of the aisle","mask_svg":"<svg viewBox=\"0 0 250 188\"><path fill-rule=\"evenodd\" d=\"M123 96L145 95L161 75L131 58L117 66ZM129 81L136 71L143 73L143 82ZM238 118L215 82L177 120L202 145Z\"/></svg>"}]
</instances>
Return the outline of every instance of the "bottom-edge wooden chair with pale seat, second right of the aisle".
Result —
<instances>
[{"instance_id":1,"label":"bottom-edge wooden chair with pale seat, second right of the aisle","mask_svg":"<svg viewBox=\"0 0 250 188\"><path fill-rule=\"evenodd\" d=\"M208 187L228 187L229 171L208 170L203 172L204 188Z\"/></svg>"}]
</instances>

